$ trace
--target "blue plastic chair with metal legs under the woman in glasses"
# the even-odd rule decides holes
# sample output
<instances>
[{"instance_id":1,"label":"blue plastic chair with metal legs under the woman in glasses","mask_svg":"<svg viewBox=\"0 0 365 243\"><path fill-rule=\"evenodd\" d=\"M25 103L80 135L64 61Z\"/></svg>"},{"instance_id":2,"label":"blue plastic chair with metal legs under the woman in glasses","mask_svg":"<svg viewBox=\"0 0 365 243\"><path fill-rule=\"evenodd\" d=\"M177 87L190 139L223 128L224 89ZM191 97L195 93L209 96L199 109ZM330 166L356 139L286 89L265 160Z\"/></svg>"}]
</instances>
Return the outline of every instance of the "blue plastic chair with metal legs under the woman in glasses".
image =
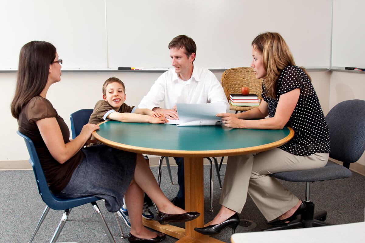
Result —
<instances>
[{"instance_id":1,"label":"blue plastic chair with metal legs under the woman in glasses","mask_svg":"<svg viewBox=\"0 0 365 243\"><path fill-rule=\"evenodd\" d=\"M92 204L92 207L96 213L96 216L97 216L99 222L101 223L101 226L103 226L103 228L104 228L105 234L108 236L111 243L115 243L115 240L114 240L107 224L105 223L104 217L101 214L100 209L96 204L96 201L100 200L100 198L95 197L95 196L86 196L86 197L69 199L69 198L61 198L61 197L54 196L48 188L46 177L43 173L41 162L39 161L38 154L35 150L35 146L34 146L32 140L30 138L28 138L27 136L25 136L24 134L20 133L19 131L17 131L17 133L21 137L24 138L24 141L27 145L27 149L28 149L28 152L30 155L29 162L33 168L35 180L37 182L38 192L41 195L42 200L46 203L46 208L42 213L41 219L39 219L37 227L32 235L32 238L30 239L29 243L31 243L33 241L34 236L37 234L39 227L41 227L41 224L43 223L43 220L47 216L47 213L50 208L52 208L54 210L64 210L64 213L61 217L61 221L59 222L58 227L57 227L56 231L54 232L53 237L50 241L50 242L56 242L59 234L62 231L62 228L64 227L64 225L66 223L66 220L69 216L69 213L71 212L71 209L74 207L78 207L80 205L87 204L87 203Z\"/></svg>"}]
</instances>

